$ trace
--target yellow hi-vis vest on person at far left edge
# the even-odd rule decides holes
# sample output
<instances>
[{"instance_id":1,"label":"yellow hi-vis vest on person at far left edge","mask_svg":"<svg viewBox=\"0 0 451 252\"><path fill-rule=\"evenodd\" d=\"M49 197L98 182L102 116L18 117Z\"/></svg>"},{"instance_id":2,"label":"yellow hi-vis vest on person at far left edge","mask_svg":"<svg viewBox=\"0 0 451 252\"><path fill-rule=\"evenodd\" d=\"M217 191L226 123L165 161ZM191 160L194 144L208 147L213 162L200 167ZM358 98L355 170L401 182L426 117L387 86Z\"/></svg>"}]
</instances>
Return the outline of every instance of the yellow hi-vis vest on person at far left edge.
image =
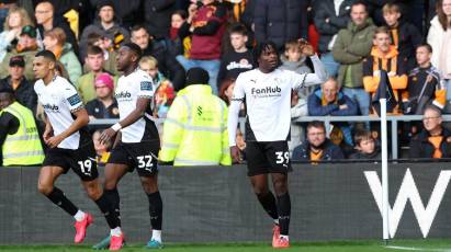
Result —
<instances>
[{"instance_id":1,"label":"yellow hi-vis vest on person at far left edge","mask_svg":"<svg viewBox=\"0 0 451 252\"><path fill-rule=\"evenodd\" d=\"M15 134L8 135L3 142L3 165L33 165L44 161L44 151L32 111L14 102L1 113L8 112L19 119Z\"/></svg>"}]
</instances>

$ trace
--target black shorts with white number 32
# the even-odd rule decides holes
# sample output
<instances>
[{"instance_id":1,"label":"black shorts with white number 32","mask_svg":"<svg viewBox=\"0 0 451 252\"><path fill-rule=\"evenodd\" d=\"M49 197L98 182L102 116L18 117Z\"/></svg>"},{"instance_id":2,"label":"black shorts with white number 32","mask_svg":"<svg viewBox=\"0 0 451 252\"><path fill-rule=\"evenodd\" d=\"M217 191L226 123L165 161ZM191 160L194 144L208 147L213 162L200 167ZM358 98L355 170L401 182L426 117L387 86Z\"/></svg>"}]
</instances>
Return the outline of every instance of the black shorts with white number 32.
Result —
<instances>
[{"instance_id":1,"label":"black shorts with white number 32","mask_svg":"<svg viewBox=\"0 0 451 252\"><path fill-rule=\"evenodd\" d=\"M111 151L108 163L126 164L128 171L136 168L139 176L158 173L158 151L160 141L142 141L136 144L120 142Z\"/></svg>"}]
</instances>

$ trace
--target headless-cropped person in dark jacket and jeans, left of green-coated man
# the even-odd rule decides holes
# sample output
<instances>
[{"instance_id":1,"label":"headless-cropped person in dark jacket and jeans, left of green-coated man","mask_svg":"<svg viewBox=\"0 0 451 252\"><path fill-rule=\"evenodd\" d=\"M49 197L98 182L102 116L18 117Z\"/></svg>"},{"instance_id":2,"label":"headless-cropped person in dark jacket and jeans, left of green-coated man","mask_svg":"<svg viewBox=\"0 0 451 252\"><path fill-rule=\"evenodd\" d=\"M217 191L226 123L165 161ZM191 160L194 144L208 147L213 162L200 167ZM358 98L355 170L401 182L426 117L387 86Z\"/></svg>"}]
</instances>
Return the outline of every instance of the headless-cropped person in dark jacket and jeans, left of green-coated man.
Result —
<instances>
[{"instance_id":1,"label":"headless-cropped person in dark jacket and jeans, left of green-coated man","mask_svg":"<svg viewBox=\"0 0 451 252\"><path fill-rule=\"evenodd\" d=\"M325 0L316 3L314 8L314 22L319 33L318 50L331 77L337 77L340 67L340 64L335 61L331 50L338 32L348 25L352 2L354 0Z\"/></svg>"}]
</instances>

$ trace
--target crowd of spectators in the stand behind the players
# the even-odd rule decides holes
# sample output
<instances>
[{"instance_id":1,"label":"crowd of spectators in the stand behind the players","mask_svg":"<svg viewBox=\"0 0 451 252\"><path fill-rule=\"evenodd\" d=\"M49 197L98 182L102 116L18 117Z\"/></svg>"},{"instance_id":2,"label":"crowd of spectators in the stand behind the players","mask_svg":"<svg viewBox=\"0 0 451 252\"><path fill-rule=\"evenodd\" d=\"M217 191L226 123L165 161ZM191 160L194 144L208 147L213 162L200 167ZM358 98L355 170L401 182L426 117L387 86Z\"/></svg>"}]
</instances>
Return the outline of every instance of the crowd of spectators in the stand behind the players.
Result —
<instances>
[{"instance_id":1,"label":"crowd of spectators in the stand behind the players","mask_svg":"<svg viewBox=\"0 0 451 252\"><path fill-rule=\"evenodd\" d=\"M42 49L55 54L58 73L77 88L91 119L117 118L116 50L135 43L144 56L139 67L154 80L153 115L165 118L177 93L187 88L191 68L206 70L213 93L229 104L237 76L257 67L252 48L259 42L275 43L280 68L312 72L300 49L302 38L313 45L330 78L292 92L293 160L380 158L377 126L368 122L334 123L326 131L320 122L294 121L374 114L381 71L388 73L394 90L391 113L424 115L424 124L401 133L420 139L409 145L408 156L425 154L422 148L433 158L451 156L448 147L438 154L449 145L448 131L428 126L451 113L451 0L1 2L0 85L10 87L14 101L32 111L38 128L43 110L33 91L32 62ZM442 137L431 140L437 130ZM0 129L0 145L7 135ZM243 138L240 131L237 137Z\"/></svg>"}]
</instances>

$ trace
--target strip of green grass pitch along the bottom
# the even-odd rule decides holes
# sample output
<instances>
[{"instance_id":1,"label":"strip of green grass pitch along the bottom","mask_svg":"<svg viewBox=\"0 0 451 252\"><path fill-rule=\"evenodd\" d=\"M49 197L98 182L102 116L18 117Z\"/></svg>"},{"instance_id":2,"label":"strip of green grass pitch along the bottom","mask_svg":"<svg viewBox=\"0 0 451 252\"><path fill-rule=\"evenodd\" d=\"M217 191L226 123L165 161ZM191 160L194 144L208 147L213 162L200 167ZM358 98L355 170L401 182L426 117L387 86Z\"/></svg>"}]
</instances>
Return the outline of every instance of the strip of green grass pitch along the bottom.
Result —
<instances>
[{"instance_id":1,"label":"strip of green grass pitch along the bottom","mask_svg":"<svg viewBox=\"0 0 451 252\"><path fill-rule=\"evenodd\" d=\"M144 244L127 244L121 251L149 251ZM93 251L89 245L0 245L0 251ZM269 243L211 243L211 244L180 244L166 243L161 252L274 252ZM278 250L280 251L280 250ZM308 252L396 252L425 251L451 252L451 239L428 240L392 240L388 247L383 241L334 241L334 242L294 242L290 249L282 251Z\"/></svg>"}]
</instances>

